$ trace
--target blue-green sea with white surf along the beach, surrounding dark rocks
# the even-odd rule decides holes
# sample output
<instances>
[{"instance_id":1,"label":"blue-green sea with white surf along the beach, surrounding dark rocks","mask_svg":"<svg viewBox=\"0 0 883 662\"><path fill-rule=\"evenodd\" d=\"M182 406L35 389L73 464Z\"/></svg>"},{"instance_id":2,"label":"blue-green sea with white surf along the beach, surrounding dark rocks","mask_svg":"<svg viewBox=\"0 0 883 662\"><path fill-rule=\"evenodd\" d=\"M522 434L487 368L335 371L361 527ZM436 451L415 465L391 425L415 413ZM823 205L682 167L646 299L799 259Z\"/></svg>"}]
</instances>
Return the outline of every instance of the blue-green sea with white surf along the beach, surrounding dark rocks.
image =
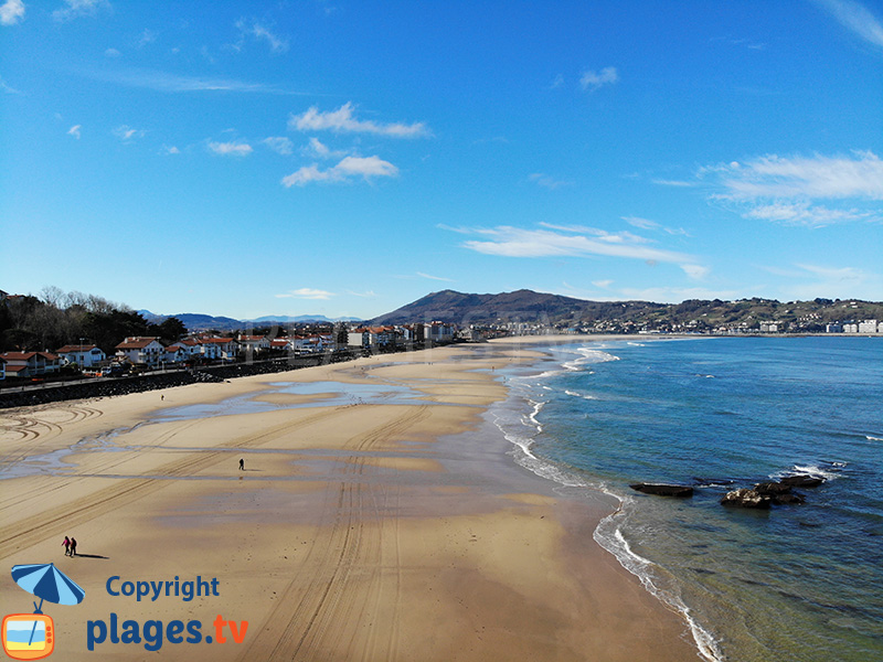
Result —
<instances>
[{"instance_id":1,"label":"blue-green sea with white surf along the beach, surrounding dark rocks","mask_svg":"<svg viewBox=\"0 0 883 662\"><path fill-rule=\"evenodd\" d=\"M535 346L535 345L534 345ZM710 661L883 660L883 338L575 342L502 378L515 461L619 506L595 540ZM720 504L790 474L802 505ZM693 485L692 499L635 482Z\"/></svg>"}]
</instances>

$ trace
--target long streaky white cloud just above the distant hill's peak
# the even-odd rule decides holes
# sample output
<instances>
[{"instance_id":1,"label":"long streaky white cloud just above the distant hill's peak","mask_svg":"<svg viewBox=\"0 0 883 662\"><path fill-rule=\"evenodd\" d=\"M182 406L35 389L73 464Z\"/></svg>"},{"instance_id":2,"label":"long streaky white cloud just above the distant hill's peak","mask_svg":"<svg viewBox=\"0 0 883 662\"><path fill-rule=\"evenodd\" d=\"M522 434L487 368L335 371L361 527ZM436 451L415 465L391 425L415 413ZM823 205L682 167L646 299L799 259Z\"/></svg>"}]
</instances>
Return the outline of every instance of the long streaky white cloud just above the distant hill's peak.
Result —
<instances>
[{"instance_id":1,"label":"long streaky white cloud just above the distant hill's peak","mask_svg":"<svg viewBox=\"0 0 883 662\"><path fill-rule=\"evenodd\" d=\"M564 232L523 229L508 225L474 228L472 234L485 238L465 242L462 246L477 253L506 257L602 255L663 263L694 261L689 255L648 246L646 239L630 233L613 234L593 228L583 228L583 232L561 229Z\"/></svg>"}]
</instances>

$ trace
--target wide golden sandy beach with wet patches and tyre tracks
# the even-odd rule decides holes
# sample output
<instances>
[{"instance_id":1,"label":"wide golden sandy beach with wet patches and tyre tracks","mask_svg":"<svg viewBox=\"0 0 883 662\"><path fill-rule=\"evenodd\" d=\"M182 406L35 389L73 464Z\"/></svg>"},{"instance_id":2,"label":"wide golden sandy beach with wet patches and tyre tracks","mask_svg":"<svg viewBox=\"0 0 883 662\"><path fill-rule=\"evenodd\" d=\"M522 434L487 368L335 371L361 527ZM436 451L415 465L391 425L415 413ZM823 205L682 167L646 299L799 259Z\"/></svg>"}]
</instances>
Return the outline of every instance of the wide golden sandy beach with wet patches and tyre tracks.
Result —
<instances>
[{"instance_id":1,"label":"wide golden sandy beach with wet patches and tyre tracks","mask_svg":"<svg viewBox=\"0 0 883 662\"><path fill-rule=\"evenodd\" d=\"M538 356L521 339L0 410L0 608L32 611L9 570L52 562L86 591L43 606L60 660L699 659L594 542L615 502L558 494L482 418L499 371ZM211 595L187 600L198 577ZM123 595L139 581L159 595Z\"/></svg>"}]
</instances>

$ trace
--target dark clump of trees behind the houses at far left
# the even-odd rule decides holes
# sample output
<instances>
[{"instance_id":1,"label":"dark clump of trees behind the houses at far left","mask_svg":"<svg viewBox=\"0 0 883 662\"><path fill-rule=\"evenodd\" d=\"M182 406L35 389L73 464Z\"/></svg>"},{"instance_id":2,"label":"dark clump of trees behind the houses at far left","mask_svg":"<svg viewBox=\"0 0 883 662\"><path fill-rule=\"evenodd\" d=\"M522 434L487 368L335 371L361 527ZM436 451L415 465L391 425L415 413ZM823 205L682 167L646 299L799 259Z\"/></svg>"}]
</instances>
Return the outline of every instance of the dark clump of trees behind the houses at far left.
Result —
<instances>
[{"instance_id":1,"label":"dark clump of trees behind the houses at far left","mask_svg":"<svg viewBox=\"0 0 883 662\"><path fill-rule=\"evenodd\" d=\"M156 335L167 343L187 333L177 318L159 324L131 308L95 295L44 288L39 297L10 296L0 302L0 351L50 351L72 344L98 345L107 355L128 335Z\"/></svg>"}]
</instances>

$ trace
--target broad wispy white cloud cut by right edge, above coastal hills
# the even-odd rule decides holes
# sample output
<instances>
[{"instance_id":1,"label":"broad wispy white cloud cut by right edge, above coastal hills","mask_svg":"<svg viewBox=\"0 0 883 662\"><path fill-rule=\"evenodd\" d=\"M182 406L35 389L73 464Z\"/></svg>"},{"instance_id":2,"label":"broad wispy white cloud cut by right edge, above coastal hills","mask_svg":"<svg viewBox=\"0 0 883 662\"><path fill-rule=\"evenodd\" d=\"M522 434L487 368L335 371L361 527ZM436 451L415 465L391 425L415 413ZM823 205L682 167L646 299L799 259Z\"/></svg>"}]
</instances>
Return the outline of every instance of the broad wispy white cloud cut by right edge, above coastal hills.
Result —
<instances>
[{"instance_id":1,"label":"broad wispy white cloud cut by right edge, above coastal hills","mask_svg":"<svg viewBox=\"0 0 883 662\"><path fill-rule=\"evenodd\" d=\"M883 221L883 161L871 151L852 156L764 156L745 163L700 169L712 199L734 203L747 218L820 227ZM826 201L821 204L820 201Z\"/></svg>"}]
</instances>

